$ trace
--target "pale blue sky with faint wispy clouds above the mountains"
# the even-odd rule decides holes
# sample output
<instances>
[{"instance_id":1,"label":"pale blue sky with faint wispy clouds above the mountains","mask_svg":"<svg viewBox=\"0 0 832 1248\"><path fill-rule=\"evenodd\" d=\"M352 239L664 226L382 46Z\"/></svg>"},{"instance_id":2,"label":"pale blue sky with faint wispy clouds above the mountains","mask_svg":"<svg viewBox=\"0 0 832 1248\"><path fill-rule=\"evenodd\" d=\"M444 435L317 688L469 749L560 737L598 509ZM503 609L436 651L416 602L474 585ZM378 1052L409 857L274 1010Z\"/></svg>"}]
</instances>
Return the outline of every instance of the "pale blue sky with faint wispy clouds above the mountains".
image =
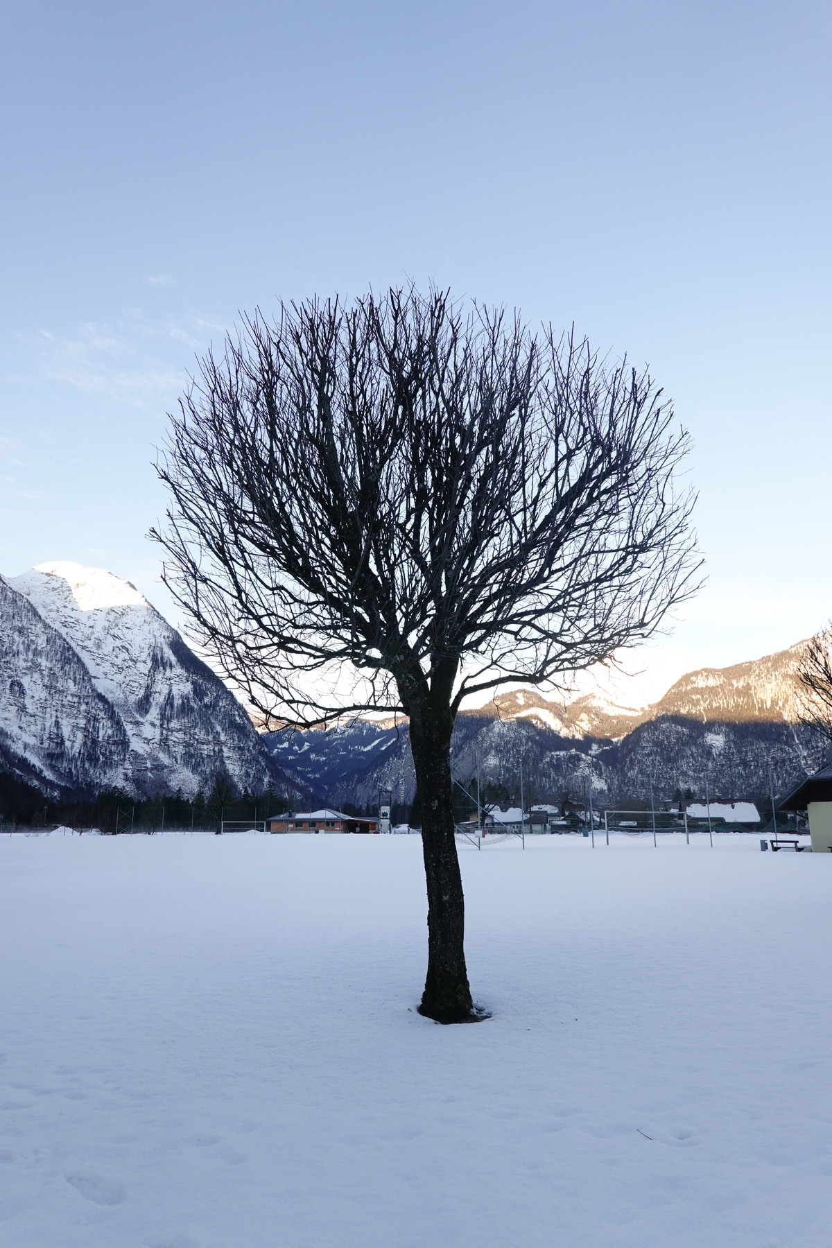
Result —
<instances>
[{"instance_id":1,"label":"pale blue sky with faint wispy clouds above the mountains","mask_svg":"<svg viewBox=\"0 0 832 1248\"><path fill-rule=\"evenodd\" d=\"M669 644L832 614L832 9L39 4L0 17L0 570L170 613L145 533L195 352L413 277L649 362L710 577Z\"/></svg>"}]
</instances>

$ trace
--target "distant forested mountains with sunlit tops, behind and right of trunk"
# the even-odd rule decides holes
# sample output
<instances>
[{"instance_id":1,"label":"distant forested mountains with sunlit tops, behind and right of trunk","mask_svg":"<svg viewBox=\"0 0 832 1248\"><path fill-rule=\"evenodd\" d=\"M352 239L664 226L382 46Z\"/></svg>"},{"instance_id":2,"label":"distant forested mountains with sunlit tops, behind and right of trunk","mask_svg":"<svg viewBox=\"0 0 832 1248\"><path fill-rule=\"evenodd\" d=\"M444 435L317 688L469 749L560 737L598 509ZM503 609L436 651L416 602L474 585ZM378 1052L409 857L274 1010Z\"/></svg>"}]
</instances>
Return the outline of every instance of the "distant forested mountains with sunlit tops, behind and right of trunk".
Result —
<instances>
[{"instance_id":1,"label":"distant forested mountains with sunlit tops, behind and right of trunk","mask_svg":"<svg viewBox=\"0 0 832 1248\"><path fill-rule=\"evenodd\" d=\"M463 711L453 739L454 776L518 795L580 800L590 782L599 804L615 805L676 789L712 796L781 796L821 766L825 743L798 723L797 671L806 643L732 668L704 668L676 680L649 706L583 694L573 701L529 690L501 694ZM333 804L360 805L392 789L409 802L415 779L407 721L398 728L358 720L328 733L272 734L269 749L287 773Z\"/></svg>"}]
</instances>

